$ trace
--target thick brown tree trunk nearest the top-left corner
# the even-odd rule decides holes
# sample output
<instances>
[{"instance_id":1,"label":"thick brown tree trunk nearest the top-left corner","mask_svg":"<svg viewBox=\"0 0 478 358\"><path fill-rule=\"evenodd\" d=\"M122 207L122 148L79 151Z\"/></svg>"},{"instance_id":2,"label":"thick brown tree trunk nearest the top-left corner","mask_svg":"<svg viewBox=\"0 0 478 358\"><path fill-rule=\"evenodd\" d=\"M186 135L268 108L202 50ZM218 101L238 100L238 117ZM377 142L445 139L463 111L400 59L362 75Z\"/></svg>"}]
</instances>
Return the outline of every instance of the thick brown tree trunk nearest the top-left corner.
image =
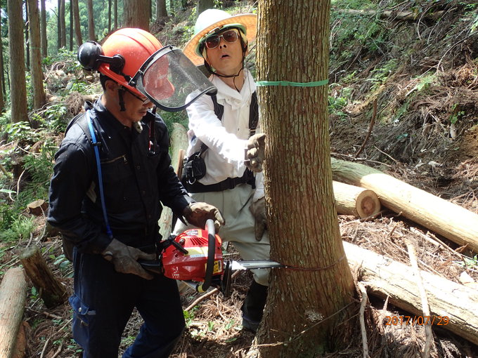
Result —
<instances>
[{"instance_id":1,"label":"thick brown tree trunk nearest the top-left corner","mask_svg":"<svg viewBox=\"0 0 478 358\"><path fill-rule=\"evenodd\" d=\"M8 52L12 121L28 121L22 1L8 0Z\"/></svg>"}]
</instances>

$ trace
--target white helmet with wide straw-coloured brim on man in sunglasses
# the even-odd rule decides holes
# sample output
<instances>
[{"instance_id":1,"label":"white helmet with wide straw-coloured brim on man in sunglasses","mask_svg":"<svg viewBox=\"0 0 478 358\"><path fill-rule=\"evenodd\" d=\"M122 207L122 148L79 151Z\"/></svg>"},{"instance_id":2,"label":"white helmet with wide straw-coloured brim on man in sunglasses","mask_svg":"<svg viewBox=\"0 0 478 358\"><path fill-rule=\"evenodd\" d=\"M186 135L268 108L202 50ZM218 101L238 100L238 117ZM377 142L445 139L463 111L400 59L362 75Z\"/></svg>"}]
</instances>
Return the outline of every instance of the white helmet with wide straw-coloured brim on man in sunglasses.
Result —
<instances>
[{"instance_id":1,"label":"white helmet with wide straw-coloured brim on man in sunglasses","mask_svg":"<svg viewBox=\"0 0 478 358\"><path fill-rule=\"evenodd\" d=\"M247 42L251 42L256 38L257 34L257 15L254 13L246 13L242 15L231 15L226 11L217 8L209 8L198 16L194 27L194 37L188 41L183 48L183 53L189 58L194 65L199 66L204 63L204 59L199 53L199 41L209 32L219 27L238 27L245 28Z\"/></svg>"}]
</instances>

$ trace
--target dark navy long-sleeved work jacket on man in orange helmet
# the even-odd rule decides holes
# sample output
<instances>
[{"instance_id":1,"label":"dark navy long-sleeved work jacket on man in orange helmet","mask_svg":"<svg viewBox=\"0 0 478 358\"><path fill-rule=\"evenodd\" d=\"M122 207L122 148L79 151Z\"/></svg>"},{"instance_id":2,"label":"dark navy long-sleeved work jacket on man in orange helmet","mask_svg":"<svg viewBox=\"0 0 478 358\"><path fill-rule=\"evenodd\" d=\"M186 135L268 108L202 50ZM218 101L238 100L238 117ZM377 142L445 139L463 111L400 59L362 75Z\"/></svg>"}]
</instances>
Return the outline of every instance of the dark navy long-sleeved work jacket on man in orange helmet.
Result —
<instances>
[{"instance_id":1,"label":"dark navy long-sleeved work jacket on man in orange helmet","mask_svg":"<svg viewBox=\"0 0 478 358\"><path fill-rule=\"evenodd\" d=\"M160 201L178 216L193 202L171 166L167 128L159 116L148 112L138 133L115 119L100 100L91 114L96 140L101 142L105 206L113 237L129 246L150 246L159 237ZM105 230L96 159L85 123L86 115L79 117L56 153L48 221L80 252L101 253L111 239ZM154 150L150 151L152 123Z\"/></svg>"}]
</instances>

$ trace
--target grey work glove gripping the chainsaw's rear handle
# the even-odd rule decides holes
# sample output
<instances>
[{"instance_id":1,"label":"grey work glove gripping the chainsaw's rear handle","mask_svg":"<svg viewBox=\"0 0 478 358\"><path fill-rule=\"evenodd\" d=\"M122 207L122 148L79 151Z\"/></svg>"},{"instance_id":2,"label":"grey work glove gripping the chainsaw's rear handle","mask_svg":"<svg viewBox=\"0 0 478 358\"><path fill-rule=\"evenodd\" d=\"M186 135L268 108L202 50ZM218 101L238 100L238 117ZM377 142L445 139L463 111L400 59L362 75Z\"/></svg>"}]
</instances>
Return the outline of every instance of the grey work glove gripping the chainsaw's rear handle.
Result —
<instances>
[{"instance_id":1,"label":"grey work glove gripping the chainsaw's rear handle","mask_svg":"<svg viewBox=\"0 0 478 358\"><path fill-rule=\"evenodd\" d=\"M155 253L146 253L139 248L127 246L121 241L113 239L101 255L115 265L117 272L122 274L136 274L139 277L143 277L143 279L153 279L153 275L146 272L138 263L138 258L155 260Z\"/></svg>"}]
</instances>

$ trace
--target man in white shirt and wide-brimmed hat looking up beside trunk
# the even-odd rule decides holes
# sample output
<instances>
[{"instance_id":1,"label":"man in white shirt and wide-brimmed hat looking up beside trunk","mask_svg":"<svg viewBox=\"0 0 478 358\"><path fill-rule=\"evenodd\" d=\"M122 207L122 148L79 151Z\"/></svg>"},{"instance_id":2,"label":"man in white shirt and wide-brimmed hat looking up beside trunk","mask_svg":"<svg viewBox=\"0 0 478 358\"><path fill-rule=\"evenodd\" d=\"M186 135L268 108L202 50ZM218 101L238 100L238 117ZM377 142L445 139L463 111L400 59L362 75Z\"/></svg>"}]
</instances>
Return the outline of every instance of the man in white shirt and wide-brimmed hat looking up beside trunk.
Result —
<instances>
[{"instance_id":1,"label":"man in white shirt and wide-brimmed hat looking up beside trunk","mask_svg":"<svg viewBox=\"0 0 478 358\"><path fill-rule=\"evenodd\" d=\"M195 34L183 49L195 65L205 65L218 90L188 107L187 157L203 160L205 168L186 164L183 183L195 200L219 208L226 221L221 238L233 242L245 260L269 259L270 251L261 173L265 135L256 134L256 86L244 67L256 32L255 14L231 16L208 9L198 16ZM178 223L174 231L184 229ZM255 332L266 303L269 270L252 272L242 310L243 327Z\"/></svg>"}]
</instances>

